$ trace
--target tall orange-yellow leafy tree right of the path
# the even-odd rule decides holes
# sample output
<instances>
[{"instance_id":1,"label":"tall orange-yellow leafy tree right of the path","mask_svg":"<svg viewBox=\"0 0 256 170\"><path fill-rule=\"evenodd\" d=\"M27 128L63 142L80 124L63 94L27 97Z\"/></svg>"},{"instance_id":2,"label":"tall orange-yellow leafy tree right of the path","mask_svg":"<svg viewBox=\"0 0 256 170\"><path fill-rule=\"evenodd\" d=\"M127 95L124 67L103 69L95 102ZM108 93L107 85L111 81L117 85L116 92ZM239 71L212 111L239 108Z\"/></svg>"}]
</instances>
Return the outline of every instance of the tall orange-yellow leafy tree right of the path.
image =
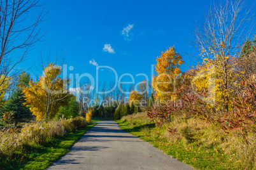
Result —
<instances>
[{"instance_id":1,"label":"tall orange-yellow leafy tree right of the path","mask_svg":"<svg viewBox=\"0 0 256 170\"><path fill-rule=\"evenodd\" d=\"M178 77L181 74L180 65L184 63L181 55L176 53L176 49L171 47L163 51L161 56L157 57L157 65L152 80L153 88L156 91L158 100L174 100L175 88L178 85Z\"/></svg>"}]
</instances>

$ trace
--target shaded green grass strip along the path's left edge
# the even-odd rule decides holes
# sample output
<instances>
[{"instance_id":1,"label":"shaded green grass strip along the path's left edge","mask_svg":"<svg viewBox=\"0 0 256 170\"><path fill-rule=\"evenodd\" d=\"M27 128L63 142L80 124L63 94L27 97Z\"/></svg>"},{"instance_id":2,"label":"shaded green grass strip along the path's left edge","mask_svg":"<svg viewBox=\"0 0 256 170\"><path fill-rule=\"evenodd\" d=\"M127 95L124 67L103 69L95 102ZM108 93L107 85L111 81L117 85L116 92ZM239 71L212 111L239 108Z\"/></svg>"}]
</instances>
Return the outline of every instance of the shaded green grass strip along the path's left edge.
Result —
<instances>
[{"instance_id":1,"label":"shaded green grass strip along the path's left edge","mask_svg":"<svg viewBox=\"0 0 256 170\"><path fill-rule=\"evenodd\" d=\"M65 138L55 139L52 143L47 143L44 146L29 147L27 148L29 154L24 154L19 160L8 161L8 164L1 162L0 167L3 167L3 169L46 169L55 160L68 153L74 143L80 140L83 134L95 125L96 122L92 122L87 128L78 130L74 134L69 133Z\"/></svg>"}]
</instances>

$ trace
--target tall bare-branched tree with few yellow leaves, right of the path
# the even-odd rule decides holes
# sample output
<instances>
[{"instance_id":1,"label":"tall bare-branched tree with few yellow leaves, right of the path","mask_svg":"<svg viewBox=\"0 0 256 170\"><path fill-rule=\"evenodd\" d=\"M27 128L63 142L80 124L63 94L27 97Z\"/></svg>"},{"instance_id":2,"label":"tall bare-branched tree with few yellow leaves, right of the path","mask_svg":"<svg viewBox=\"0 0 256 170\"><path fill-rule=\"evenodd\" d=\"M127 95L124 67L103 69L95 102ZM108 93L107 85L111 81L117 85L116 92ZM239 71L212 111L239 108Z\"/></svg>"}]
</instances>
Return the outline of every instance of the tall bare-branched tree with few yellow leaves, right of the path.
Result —
<instances>
[{"instance_id":1,"label":"tall bare-branched tree with few yellow leaves, right of the path","mask_svg":"<svg viewBox=\"0 0 256 170\"><path fill-rule=\"evenodd\" d=\"M246 10L245 1L227 0L220 5L214 4L205 15L204 22L196 26L196 40L191 41L191 44L199 49L203 58L217 63L222 69L222 91L229 89L231 83L228 82L228 77L232 72L230 58L236 56L240 50L239 46L242 46L249 36L250 28L255 24L252 22L253 17L252 8ZM225 110L228 112L229 98L227 95L224 96Z\"/></svg>"}]
</instances>

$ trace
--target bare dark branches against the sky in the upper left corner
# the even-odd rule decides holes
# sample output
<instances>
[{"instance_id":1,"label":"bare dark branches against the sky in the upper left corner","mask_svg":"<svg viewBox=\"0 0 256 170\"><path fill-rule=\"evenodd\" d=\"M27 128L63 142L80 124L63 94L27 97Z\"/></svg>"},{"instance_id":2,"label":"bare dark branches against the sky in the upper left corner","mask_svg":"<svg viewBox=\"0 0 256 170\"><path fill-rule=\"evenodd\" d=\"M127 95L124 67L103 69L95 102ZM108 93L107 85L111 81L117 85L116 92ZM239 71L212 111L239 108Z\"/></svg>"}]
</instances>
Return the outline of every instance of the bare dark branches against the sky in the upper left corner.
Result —
<instances>
[{"instance_id":1,"label":"bare dark branches against the sky in the upper left corner","mask_svg":"<svg viewBox=\"0 0 256 170\"><path fill-rule=\"evenodd\" d=\"M29 49L44 36L39 34L38 29L45 16L43 9L34 22L29 25L22 24L29 16L29 11L38 7L41 7L39 0L0 1L0 74L5 76L0 86L11 70L24 60ZM20 56L13 56L13 51L20 51Z\"/></svg>"}]
</instances>

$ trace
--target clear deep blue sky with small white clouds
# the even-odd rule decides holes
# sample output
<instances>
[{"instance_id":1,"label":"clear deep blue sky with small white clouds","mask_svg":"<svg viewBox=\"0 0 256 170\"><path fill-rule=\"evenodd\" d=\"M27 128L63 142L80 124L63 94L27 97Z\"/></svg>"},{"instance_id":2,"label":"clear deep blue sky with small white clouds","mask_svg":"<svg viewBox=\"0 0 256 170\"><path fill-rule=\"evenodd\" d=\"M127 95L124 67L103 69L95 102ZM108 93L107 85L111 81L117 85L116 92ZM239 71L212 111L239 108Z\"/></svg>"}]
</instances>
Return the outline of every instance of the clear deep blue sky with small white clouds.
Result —
<instances>
[{"instance_id":1,"label":"clear deep blue sky with small white clouds","mask_svg":"<svg viewBox=\"0 0 256 170\"><path fill-rule=\"evenodd\" d=\"M41 74L36 70L40 51L52 58L66 51L65 63L72 73L95 76L96 65L113 67L118 75L129 73L139 82L147 74L161 51L175 46L187 65L196 65L185 53L193 53L192 39L195 21L201 21L211 1L60 1L41 0L45 4L47 32L18 68ZM31 11L36 16L38 11ZM99 70L100 81L113 81L113 72Z\"/></svg>"}]
</instances>

